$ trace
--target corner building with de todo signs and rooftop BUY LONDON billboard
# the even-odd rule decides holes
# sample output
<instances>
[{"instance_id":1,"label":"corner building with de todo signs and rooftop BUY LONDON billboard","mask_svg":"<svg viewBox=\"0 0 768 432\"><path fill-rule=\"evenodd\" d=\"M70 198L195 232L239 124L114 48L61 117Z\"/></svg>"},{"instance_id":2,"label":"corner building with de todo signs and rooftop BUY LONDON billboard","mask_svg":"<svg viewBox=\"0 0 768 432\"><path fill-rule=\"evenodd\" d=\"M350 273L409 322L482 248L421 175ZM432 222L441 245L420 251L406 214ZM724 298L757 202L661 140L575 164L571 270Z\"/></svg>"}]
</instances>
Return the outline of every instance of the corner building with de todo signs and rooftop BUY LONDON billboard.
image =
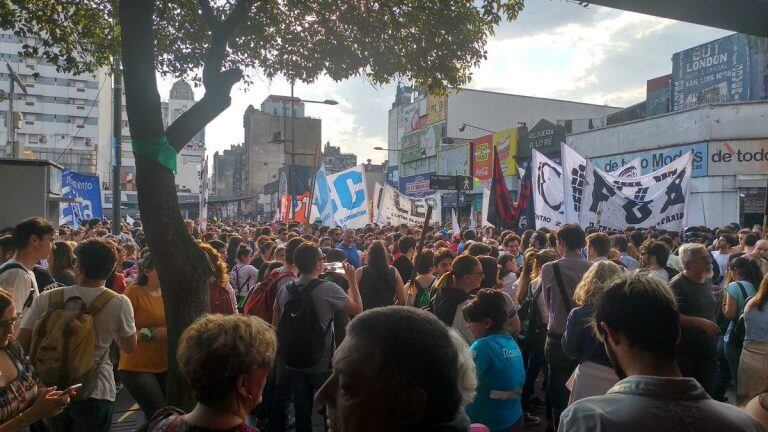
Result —
<instances>
[{"instance_id":1,"label":"corner building with de todo signs and rooftop BUY LONDON billboard","mask_svg":"<svg viewBox=\"0 0 768 432\"><path fill-rule=\"evenodd\" d=\"M633 158L649 174L693 152L687 225L762 224L768 183L768 40L742 34L673 56L648 81L645 114L572 124L566 143L611 171Z\"/></svg>"}]
</instances>

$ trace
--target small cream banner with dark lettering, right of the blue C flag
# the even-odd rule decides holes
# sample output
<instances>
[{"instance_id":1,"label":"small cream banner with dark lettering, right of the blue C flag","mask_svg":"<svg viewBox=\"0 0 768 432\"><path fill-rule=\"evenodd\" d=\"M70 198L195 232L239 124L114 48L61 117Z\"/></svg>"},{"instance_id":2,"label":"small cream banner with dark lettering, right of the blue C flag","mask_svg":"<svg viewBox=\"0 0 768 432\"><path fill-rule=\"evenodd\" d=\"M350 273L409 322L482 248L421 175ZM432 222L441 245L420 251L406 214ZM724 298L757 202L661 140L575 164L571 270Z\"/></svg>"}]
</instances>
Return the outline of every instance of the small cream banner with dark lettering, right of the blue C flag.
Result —
<instances>
[{"instance_id":1,"label":"small cream banner with dark lettering, right of the blue C flag","mask_svg":"<svg viewBox=\"0 0 768 432\"><path fill-rule=\"evenodd\" d=\"M410 198L390 185L376 184L375 221L379 225L422 225L427 214L427 206L432 206L432 222L442 221L440 194L424 198Z\"/></svg>"}]
</instances>

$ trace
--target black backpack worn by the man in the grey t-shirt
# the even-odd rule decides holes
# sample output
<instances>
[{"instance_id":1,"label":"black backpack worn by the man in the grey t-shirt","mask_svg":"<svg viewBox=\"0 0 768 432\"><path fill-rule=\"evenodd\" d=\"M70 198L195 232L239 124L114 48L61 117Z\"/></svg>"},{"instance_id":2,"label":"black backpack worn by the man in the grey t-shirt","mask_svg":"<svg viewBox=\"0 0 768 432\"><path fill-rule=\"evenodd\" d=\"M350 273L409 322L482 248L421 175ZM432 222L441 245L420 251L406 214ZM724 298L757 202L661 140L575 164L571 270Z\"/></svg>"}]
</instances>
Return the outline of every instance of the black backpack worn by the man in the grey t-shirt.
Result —
<instances>
[{"instance_id":1,"label":"black backpack worn by the man in the grey t-shirt","mask_svg":"<svg viewBox=\"0 0 768 432\"><path fill-rule=\"evenodd\" d=\"M288 301L277 324L277 346L280 358L288 367L315 366L325 351L325 337L333 321L323 328L312 301L312 291L321 283L322 280L313 279L304 289L299 289L296 281L286 286Z\"/></svg>"}]
</instances>

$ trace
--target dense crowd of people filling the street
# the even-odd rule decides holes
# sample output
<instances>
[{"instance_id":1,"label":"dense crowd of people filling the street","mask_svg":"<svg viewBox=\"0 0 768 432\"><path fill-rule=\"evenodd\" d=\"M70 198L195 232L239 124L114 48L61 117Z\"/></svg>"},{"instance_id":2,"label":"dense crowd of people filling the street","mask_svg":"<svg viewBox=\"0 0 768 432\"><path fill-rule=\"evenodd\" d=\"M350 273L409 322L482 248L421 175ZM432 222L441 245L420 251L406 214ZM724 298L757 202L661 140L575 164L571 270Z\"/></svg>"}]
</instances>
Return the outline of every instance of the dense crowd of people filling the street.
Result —
<instances>
[{"instance_id":1,"label":"dense crowd of people filling the street","mask_svg":"<svg viewBox=\"0 0 768 432\"><path fill-rule=\"evenodd\" d=\"M184 412L163 269L140 222L110 225L0 231L0 432L108 431L123 389L150 432L768 427L759 226L187 221L211 276Z\"/></svg>"}]
</instances>

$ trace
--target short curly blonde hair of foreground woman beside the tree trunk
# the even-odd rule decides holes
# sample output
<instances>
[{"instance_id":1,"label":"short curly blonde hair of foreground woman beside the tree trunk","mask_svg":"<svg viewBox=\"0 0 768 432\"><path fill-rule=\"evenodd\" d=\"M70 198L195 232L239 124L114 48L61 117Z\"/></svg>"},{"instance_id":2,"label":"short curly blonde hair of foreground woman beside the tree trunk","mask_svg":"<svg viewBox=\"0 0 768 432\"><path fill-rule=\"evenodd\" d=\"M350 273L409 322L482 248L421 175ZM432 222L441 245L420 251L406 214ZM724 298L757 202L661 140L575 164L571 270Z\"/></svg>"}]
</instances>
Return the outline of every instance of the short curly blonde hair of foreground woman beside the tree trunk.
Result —
<instances>
[{"instance_id":1,"label":"short curly blonde hair of foreground woman beside the tree trunk","mask_svg":"<svg viewBox=\"0 0 768 432\"><path fill-rule=\"evenodd\" d=\"M276 351L275 331L263 320L206 314L181 335L176 360L195 398L215 405L234 392L241 375L270 369Z\"/></svg>"}]
</instances>

